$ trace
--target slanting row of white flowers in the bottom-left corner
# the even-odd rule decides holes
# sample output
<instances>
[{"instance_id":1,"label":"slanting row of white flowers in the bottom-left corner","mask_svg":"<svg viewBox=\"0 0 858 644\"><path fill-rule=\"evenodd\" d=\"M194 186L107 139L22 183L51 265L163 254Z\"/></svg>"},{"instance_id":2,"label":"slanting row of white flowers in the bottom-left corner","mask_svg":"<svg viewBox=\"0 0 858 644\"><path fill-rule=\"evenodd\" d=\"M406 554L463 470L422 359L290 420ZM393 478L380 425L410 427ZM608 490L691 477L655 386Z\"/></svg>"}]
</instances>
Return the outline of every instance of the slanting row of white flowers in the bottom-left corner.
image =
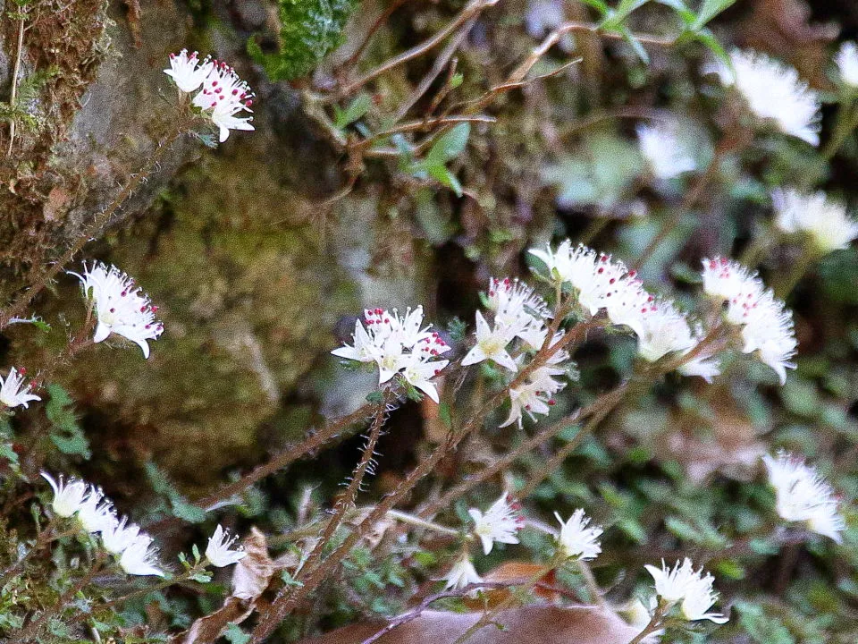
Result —
<instances>
[{"instance_id":1,"label":"slanting row of white flowers in the bottom-left corner","mask_svg":"<svg viewBox=\"0 0 858 644\"><path fill-rule=\"evenodd\" d=\"M65 481L62 476L56 481L46 472L42 472L42 477L54 489L51 507L56 515L64 518L77 515L84 530L100 533L105 550L119 557L123 571L131 575L164 577L164 572L156 565L152 538L140 532L139 526L129 523L126 517L118 519L113 504L105 498L101 488L78 479Z\"/></svg>"}]
</instances>

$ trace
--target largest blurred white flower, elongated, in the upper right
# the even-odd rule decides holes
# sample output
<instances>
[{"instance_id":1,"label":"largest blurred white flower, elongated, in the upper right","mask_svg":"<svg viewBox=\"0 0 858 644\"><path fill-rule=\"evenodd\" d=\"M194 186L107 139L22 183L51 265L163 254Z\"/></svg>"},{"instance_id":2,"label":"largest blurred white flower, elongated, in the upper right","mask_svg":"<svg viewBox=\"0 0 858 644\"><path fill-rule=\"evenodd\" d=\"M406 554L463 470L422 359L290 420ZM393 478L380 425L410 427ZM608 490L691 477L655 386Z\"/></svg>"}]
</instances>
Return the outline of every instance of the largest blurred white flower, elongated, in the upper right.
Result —
<instances>
[{"instance_id":1,"label":"largest blurred white flower, elongated, in the upper right","mask_svg":"<svg viewBox=\"0 0 858 644\"><path fill-rule=\"evenodd\" d=\"M714 71L724 85L736 87L753 114L771 119L786 134L819 144L820 97L793 67L753 51L736 50L730 60L733 71L723 63Z\"/></svg>"}]
</instances>

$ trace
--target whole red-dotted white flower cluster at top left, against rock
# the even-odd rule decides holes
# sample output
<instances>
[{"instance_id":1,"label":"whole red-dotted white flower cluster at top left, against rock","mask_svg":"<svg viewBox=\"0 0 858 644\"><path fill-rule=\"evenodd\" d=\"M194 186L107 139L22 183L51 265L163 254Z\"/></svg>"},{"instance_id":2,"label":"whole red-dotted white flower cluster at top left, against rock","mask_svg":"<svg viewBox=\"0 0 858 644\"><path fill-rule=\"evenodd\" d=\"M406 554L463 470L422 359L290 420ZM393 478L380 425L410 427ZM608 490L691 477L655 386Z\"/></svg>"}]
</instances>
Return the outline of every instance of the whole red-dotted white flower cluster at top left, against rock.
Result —
<instances>
[{"instance_id":1,"label":"whole red-dotted white flower cluster at top left, against rock","mask_svg":"<svg viewBox=\"0 0 858 644\"><path fill-rule=\"evenodd\" d=\"M170 55L170 69L164 70L182 92L189 94L197 91L193 98L194 106L203 110L220 131L220 141L227 140L230 130L253 130L250 123L253 117L238 118L240 112L251 112L253 92L248 83L228 64L213 60L198 59L197 52L188 54L182 49L178 54Z\"/></svg>"}]
</instances>

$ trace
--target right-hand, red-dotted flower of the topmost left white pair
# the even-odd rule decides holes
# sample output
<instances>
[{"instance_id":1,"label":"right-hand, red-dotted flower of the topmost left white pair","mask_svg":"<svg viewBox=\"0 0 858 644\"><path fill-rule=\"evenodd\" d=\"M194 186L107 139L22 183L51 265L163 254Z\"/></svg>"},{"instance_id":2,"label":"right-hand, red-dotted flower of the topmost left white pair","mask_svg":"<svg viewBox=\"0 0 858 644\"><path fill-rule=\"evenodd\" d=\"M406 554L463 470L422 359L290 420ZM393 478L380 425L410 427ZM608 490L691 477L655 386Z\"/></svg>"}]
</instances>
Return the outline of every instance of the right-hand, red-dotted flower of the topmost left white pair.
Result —
<instances>
[{"instance_id":1,"label":"right-hand, red-dotted flower of the topmost left white pair","mask_svg":"<svg viewBox=\"0 0 858 644\"><path fill-rule=\"evenodd\" d=\"M254 129L250 124L252 116L246 119L235 116L239 112L252 111L252 97L253 92L248 83L241 80L235 70L225 63L214 61L213 69L203 81L203 89L194 97L193 103L204 113L208 112L212 123L220 130L220 141L223 143L230 136L230 130Z\"/></svg>"}]
</instances>

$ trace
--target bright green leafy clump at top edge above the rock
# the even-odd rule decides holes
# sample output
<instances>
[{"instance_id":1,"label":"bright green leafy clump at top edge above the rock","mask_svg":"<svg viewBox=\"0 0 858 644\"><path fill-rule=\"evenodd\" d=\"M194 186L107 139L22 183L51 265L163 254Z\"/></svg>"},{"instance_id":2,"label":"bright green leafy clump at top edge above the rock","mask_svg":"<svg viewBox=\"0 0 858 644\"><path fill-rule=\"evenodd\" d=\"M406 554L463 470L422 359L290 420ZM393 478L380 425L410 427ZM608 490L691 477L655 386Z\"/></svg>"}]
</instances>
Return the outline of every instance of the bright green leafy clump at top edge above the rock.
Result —
<instances>
[{"instance_id":1,"label":"bright green leafy clump at top edge above the rock","mask_svg":"<svg viewBox=\"0 0 858 644\"><path fill-rule=\"evenodd\" d=\"M271 80L290 80L311 72L342 42L342 30L357 0L278 0L280 50L265 54L256 40L248 53ZM350 123L350 122L349 122Z\"/></svg>"}]
</instances>

